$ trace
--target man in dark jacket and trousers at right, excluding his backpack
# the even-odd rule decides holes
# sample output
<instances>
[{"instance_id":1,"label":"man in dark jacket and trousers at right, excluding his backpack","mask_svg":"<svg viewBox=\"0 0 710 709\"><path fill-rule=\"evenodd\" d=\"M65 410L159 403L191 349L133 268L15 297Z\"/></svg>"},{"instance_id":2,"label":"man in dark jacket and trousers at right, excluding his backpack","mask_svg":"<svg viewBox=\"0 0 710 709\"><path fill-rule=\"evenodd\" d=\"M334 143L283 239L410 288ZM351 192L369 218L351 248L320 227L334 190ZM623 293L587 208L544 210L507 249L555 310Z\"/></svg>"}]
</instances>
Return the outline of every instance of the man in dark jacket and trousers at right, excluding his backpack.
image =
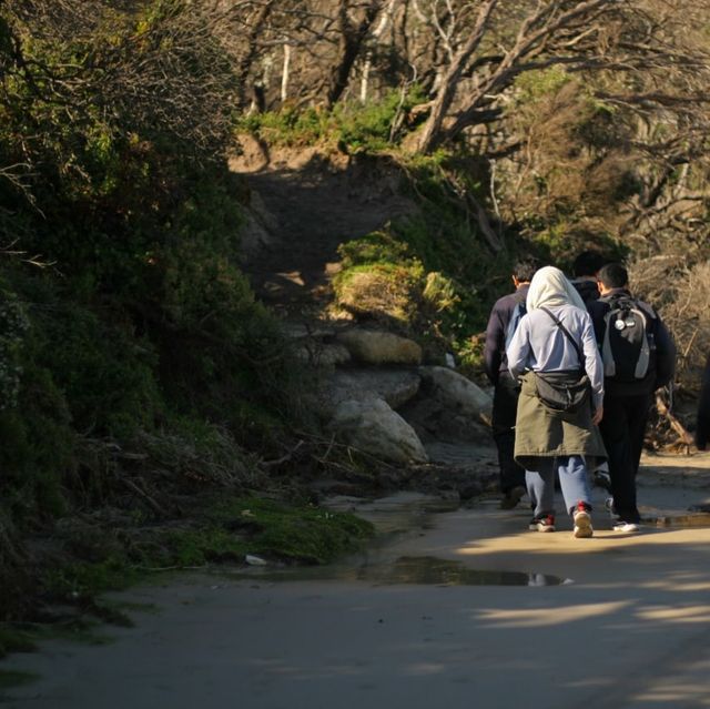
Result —
<instances>
[{"instance_id":1,"label":"man in dark jacket and trousers at right, excluding his backpack","mask_svg":"<svg viewBox=\"0 0 710 709\"><path fill-rule=\"evenodd\" d=\"M636 498L636 476L639 470L646 424L653 401L653 392L669 384L676 373L676 345L659 317L648 304L632 297L629 276L620 263L604 266L598 274L600 297L587 307L595 326L595 336L605 356L604 419L599 429L609 456L612 513L617 516L617 531L638 530L640 515ZM622 379L612 374L605 354L606 315L619 298L632 298L646 320L648 368L642 378ZM633 326L633 318L609 323L617 330Z\"/></svg>"}]
</instances>

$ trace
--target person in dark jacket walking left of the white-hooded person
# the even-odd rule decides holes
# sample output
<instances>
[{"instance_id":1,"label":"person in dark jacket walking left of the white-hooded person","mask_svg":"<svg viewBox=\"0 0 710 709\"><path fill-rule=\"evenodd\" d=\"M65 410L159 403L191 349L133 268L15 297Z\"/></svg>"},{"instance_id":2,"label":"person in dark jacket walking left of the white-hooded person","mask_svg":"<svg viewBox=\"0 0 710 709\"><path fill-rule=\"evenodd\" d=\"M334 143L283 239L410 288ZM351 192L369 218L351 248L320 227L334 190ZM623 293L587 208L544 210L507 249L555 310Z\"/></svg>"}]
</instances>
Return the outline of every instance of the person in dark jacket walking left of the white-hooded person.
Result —
<instances>
[{"instance_id":1,"label":"person in dark jacket walking left of the white-hooded person","mask_svg":"<svg viewBox=\"0 0 710 709\"><path fill-rule=\"evenodd\" d=\"M519 261L513 272L515 292L498 298L490 311L486 327L484 361L486 374L494 385L493 396L493 437L498 449L500 475L500 507L513 509L525 495L525 470L515 462L515 417L518 407L520 386L508 372L506 358L506 336L510 318L519 303L525 298L530 280L537 271L535 259Z\"/></svg>"}]
</instances>

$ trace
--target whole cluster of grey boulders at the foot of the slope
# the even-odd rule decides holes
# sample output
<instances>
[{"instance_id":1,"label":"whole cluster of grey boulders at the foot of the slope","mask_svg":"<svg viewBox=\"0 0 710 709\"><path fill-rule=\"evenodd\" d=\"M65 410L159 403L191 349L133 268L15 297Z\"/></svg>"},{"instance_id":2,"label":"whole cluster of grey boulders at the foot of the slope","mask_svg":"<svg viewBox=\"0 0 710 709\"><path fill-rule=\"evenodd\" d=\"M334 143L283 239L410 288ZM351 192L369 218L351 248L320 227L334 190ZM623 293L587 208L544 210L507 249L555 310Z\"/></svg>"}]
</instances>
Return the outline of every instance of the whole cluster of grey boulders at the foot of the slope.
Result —
<instances>
[{"instance_id":1,"label":"whole cluster of grey boulders at the foot of the slope","mask_svg":"<svg viewBox=\"0 0 710 709\"><path fill-rule=\"evenodd\" d=\"M489 444L490 395L444 366L417 366L422 348L389 332L351 324L284 325L320 367L314 395L337 438L396 464L427 462L425 444Z\"/></svg>"}]
</instances>

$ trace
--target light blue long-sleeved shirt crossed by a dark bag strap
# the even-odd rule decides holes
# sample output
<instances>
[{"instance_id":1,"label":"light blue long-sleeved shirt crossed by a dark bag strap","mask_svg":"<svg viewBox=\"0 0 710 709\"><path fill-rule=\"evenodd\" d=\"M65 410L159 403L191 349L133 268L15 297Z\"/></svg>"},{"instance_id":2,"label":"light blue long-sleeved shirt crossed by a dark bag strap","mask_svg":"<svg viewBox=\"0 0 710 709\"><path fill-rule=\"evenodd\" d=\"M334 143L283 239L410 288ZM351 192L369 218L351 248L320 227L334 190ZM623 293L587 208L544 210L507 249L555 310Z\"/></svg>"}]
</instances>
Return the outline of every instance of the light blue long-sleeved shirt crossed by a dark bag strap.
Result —
<instances>
[{"instance_id":1,"label":"light blue long-sleeved shirt crossed by a dark bag strap","mask_svg":"<svg viewBox=\"0 0 710 709\"><path fill-rule=\"evenodd\" d=\"M594 407L598 408L604 399L604 367L589 313L575 305L548 310L579 344L585 361L579 362L572 343L555 321L545 311L536 308L520 320L506 350L510 374L517 378L527 369L572 371L580 368L581 364L591 382Z\"/></svg>"}]
</instances>

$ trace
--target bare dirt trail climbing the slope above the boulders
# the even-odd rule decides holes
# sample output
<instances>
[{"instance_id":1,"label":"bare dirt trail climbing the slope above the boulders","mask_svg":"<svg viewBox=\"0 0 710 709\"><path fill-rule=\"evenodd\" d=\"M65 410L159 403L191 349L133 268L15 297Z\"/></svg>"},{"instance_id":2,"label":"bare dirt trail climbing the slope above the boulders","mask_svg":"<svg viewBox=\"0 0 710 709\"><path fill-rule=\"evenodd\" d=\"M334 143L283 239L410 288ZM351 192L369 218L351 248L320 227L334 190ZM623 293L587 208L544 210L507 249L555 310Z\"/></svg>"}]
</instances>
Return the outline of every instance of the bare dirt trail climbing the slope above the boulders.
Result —
<instances>
[{"instance_id":1,"label":"bare dirt trail climbing the slope above the boulders","mask_svg":"<svg viewBox=\"0 0 710 709\"><path fill-rule=\"evenodd\" d=\"M246 176L266 212L271 243L250 254L244 271L276 311L297 313L327 303L338 245L416 210L399 194L400 171L386 160L313 148L267 152L244 139L244 153L230 166Z\"/></svg>"}]
</instances>

